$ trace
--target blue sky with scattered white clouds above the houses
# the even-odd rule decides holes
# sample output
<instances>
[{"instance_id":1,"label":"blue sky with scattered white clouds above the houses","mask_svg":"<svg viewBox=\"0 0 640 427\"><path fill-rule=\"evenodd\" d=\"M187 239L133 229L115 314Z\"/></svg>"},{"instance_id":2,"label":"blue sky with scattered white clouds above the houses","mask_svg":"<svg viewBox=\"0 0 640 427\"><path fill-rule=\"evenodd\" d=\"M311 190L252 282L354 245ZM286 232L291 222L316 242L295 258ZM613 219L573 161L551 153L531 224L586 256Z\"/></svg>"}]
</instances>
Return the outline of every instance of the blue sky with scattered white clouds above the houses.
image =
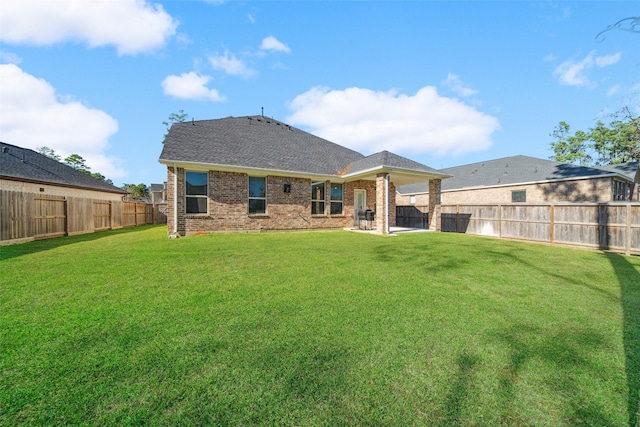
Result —
<instances>
[{"instance_id":1,"label":"blue sky with scattered white clouds above the houses","mask_svg":"<svg viewBox=\"0 0 640 427\"><path fill-rule=\"evenodd\" d=\"M5 1L0 140L79 154L118 186L166 180L162 122L179 110L264 108L434 168L549 158L561 120L640 114L630 17L635 0Z\"/></svg>"}]
</instances>

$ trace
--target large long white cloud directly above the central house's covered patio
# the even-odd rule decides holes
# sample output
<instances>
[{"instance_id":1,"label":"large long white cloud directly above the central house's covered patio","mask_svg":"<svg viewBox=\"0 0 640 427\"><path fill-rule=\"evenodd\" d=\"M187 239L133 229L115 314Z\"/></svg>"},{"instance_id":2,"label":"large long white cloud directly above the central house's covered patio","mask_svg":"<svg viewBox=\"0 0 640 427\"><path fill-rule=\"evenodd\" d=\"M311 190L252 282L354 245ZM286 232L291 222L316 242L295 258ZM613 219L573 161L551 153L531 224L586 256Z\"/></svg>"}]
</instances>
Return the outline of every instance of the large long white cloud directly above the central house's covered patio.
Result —
<instances>
[{"instance_id":1,"label":"large long white cloud directly above the central house's covered patio","mask_svg":"<svg viewBox=\"0 0 640 427\"><path fill-rule=\"evenodd\" d=\"M498 120L433 86L415 95L363 88L316 87L290 104L288 122L362 153L389 150L434 155L463 154L492 145Z\"/></svg>"}]
</instances>

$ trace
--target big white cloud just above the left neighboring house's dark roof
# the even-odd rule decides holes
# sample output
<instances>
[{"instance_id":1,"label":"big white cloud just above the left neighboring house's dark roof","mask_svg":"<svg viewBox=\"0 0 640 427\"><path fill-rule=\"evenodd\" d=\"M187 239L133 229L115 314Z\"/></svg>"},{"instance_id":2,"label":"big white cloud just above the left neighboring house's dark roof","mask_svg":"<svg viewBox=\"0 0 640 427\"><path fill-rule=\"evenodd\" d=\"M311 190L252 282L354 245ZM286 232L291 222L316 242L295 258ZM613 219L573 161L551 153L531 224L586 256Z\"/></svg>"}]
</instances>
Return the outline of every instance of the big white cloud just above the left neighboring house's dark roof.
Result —
<instances>
[{"instance_id":1,"label":"big white cloud just above the left neighboring house's dark roof","mask_svg":"<svg viewBox=\"0 0 640 427\"><path fill-rule=\"evenodd\" d=\"M15 64L0 65L0 140L24 148L46 146L62 158L79 154L110 179L126 176L118 159L105 154L118 123L104 111L63 100L43 79Z\"/></svg>"}]
</instances>

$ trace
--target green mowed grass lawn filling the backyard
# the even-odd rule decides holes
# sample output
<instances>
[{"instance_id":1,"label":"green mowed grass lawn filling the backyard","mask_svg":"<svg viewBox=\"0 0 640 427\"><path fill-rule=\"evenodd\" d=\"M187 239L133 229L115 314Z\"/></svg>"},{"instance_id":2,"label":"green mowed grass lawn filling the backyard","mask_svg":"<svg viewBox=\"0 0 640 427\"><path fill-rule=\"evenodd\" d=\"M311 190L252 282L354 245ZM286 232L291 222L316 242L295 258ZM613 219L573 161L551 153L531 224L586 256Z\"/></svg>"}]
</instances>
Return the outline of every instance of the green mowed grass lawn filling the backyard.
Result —
<instances>
[{"instance_id":1,"label":"green mowed grass lawn filling the backyard","mask_svg":"<svg viewBox=\"0 0 640 427\"><path fill-rule=\"evenodd\" d=\"M640 257L451 233L0 247L1 425L634 426Z\"/></svg>"}]
</instances>

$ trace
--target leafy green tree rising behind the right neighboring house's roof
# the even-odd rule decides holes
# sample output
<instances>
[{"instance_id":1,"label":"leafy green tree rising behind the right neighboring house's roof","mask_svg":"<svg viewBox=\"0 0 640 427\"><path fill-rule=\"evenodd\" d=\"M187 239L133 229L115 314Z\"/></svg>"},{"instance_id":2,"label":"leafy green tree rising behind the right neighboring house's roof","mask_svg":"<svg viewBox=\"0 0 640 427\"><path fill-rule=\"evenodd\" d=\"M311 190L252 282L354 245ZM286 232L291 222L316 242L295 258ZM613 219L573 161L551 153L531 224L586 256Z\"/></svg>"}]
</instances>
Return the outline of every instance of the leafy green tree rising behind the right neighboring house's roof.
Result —
<instances>
[{"instance_id":1,"label":"leafy green tree rising behind the right neighboring house's roof","mask_svg":"<svg viewBox=\"0 0 640 427\"><path fill-rule=\"evenodd\" d=\"M554 138L553 160L599 166L640 161L640 116L628 107L618 111L609 125L598 120L587 132L570 135L570 127L560 122L550 134Z\"/></svg>"}]
</instances>

